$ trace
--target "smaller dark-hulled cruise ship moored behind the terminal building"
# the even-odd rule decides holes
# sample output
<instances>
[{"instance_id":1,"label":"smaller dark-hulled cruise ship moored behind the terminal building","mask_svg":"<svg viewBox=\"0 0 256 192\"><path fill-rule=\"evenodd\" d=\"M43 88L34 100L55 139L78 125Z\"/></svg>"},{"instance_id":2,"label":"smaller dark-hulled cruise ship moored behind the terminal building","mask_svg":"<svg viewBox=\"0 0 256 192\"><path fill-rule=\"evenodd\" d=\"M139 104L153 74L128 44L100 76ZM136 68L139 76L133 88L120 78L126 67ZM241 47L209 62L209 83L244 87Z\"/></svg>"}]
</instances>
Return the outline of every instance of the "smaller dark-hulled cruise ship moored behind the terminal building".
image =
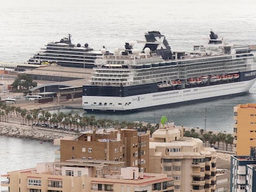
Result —
<instances>
[{"instance_id":1,"label":"smaller dark-hulled cruise ship moored behind the terminal building","mask_svg":"<svg viewBox=\"0 0 256 192\"><path fill-rule=\"evenodd\" d=\"M48 43L45 48L28 60L28 64L58 64L64 67L93 68L95 59L101 57L101 51L90 48L88 43L84 46L80 43L73 44L69 34L61 41Z\"/></svg>"}]
</instances>

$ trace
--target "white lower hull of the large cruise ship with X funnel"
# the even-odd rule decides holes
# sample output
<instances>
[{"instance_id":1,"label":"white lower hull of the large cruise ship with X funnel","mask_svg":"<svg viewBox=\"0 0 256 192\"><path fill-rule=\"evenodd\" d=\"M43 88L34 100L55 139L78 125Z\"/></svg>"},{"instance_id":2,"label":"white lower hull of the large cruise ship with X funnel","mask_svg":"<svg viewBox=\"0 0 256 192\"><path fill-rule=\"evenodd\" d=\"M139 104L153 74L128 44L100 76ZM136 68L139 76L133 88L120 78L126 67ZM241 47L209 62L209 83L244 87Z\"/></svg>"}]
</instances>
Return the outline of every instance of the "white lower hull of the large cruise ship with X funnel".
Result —
<instances>
[{"instance_id":1,"label":"white lower hull of the large cruise ship with X funnel","mask_svg":"<svg viewBox=\"0 0 256 192\"><path fill-rule=\"evenodd\" d=\"M226 83L213 83L211 85L192 86L190 88L166 91L153 91L153 93L135 94L132 96L83 95L83 109L88 112L143 111L150 108L167 107L172 104L200 102L221 97L237 96L247 93L256 80L255 71L241 73L241 76L239 81L227 81ZM152 87L151 90L154 90L154 88Z\"/></svg>"}]
</instances>

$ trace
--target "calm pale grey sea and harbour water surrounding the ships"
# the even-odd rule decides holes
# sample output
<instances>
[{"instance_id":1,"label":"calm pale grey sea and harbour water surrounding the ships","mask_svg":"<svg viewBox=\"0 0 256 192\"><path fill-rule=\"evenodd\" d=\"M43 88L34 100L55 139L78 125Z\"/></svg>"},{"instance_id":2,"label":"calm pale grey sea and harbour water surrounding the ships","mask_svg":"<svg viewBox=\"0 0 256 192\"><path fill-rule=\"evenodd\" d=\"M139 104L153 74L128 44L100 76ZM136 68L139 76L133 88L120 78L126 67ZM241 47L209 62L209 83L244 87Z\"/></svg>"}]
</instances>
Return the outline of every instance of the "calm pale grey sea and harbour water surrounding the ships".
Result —
<instances>
[{"instance_id":1,"label":"calm pale grey sea and harbour water surrounding the ships","mask_svg":"<svg viewBox=\"0 0 256 192\"><path fill-rule=\"evenodd\" d=\"M161 31L173 50L204 43L211 29L226 42L256 44L255 8L254 0L2 0L0 62L26 62L44 44L59 41L68 33L75 44L88 43L95 49L104 45L111 51L123 48L125 41L142 40L148 30ZM166 115L178 125L204 127L207 109L207 128L232 131L233 107L255 102L255 93L254 87L250 94L233 99L96 117L157 122ZM51 144L2 137L0 144L1 173L54 159Z\"/></svg>"}]
</instances>

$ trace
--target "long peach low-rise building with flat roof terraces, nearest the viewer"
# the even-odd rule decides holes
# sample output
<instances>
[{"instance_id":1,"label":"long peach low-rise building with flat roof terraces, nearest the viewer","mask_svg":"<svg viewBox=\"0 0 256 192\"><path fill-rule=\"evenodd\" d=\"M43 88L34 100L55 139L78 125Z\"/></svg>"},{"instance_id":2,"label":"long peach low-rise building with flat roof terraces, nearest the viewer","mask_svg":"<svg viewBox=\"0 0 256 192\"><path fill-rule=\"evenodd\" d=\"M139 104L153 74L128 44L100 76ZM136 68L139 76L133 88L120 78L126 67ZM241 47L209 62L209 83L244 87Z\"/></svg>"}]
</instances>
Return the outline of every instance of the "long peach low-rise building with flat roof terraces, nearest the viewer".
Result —
<instances>
[{"instance_id":1,"label":"long peach low-rise building with flat roof terraces, nearest the viewer","mask_svg":"<svg viewBox=\"0 0 256 192\"><path fill-rule=\"evenodd\" d=\"M1 186L9 192L173 192L173 178L142 173L124 162L72 159L40 163L36 168L9 172Z\"/></svg>"}]
</instances>

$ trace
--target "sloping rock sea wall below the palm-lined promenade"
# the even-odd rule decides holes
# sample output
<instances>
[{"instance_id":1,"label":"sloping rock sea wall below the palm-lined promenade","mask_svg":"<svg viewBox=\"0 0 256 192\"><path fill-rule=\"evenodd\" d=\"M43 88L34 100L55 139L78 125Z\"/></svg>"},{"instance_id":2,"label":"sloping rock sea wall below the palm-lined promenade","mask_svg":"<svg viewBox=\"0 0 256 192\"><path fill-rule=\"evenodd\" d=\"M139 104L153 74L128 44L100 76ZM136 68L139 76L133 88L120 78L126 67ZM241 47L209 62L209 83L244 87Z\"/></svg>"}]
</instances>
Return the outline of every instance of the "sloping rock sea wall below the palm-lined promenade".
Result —
<instances>
[{"instance_id":1,"label":"sloping rock sea wall below the palm-lined promenade","mask_svg":"<svg viewBox=\"0 0 256 192\"><path fill-rule=\"evenodd\" d=\"M46 128L37 128L26 125L19 125L16 123L0 122L0 135L52 142L57 138L74 136L74 133L58 130L48 130Z\"/></svg>"}]
</instances>

